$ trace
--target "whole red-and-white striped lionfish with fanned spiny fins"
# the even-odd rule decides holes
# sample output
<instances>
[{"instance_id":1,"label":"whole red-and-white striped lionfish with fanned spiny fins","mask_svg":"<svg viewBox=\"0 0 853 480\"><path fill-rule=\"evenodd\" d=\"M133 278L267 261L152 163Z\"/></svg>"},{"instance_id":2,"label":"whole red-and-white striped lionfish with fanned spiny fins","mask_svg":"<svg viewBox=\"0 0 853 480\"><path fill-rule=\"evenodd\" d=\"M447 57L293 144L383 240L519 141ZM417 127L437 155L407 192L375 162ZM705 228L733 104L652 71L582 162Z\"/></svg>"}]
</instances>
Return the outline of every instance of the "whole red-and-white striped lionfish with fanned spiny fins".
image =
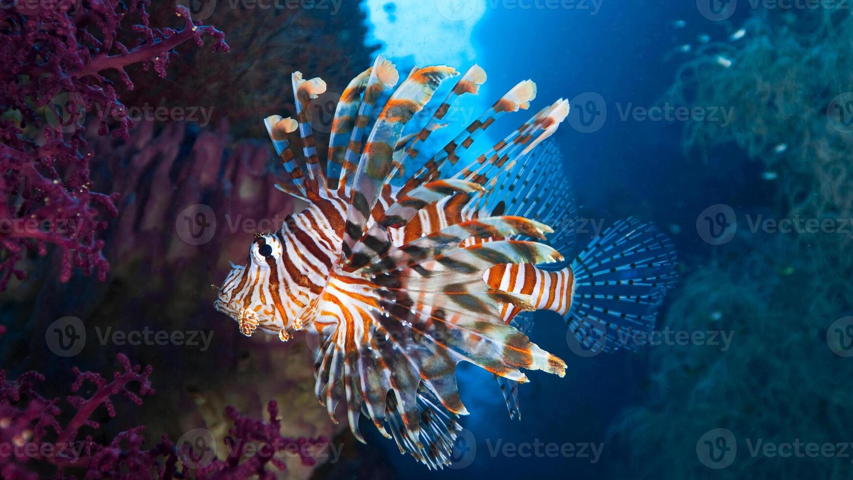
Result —
<instances>
[{"instance_id":1,"label":"whole red-and-white striped lionfish with fanned spiny fins","mask_svg":"<svg viewBox=\"0 0 853 480\"><path fill-rule=\"evenodd\" d=\"M363 413L401 453L431 468L450 464L457 419L467 414L457 363L493 373L510 416L519 416L517 386L528 381L521 369L566 371L525 335L531 312L564 316L585 349L632 349L625 335L653 328L676 278L672 242L634 219L564 260L577 210L556 148L536 147L566 119L568 101L463 160L504 113L530 107L531 80L425 159L421 146L446 128L441 120L455 101L478 95L485 71L471 67L420 130L403 132L457 76L452 67L415 67L394 90L397 70L378 57L340 96L323 169L310 102L326 84L294 72L297 119L275 115L264 124L287 172L276 187L307 206L275 233L256 234L247 264L232 263L215 303L247 336L318 335L316 397L333 421L343 400L359 441Z\"/></svg>"}]
</instances>

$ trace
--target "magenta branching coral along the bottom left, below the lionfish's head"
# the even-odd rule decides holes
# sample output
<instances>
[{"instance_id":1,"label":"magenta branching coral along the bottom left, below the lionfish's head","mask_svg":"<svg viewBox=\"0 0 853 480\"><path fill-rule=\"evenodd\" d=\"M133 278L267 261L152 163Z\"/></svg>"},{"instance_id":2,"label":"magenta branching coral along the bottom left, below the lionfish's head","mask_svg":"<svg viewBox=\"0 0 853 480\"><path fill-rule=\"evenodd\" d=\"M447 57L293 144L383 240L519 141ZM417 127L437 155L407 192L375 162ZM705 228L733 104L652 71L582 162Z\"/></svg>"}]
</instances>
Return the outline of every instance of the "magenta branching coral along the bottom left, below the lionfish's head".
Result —
<instances>
[{"instance_id":1,"label":"magenta branching coral along the bottom left, below the lionfish's head","mask_svg":"<svg viewBox=\"0 0 853 480\"><path fill-rule=\"evenodd\" d=\"M64 477L67 471L82 471L85 478L274 478L272 467L280 471L287 468L278 459L281 453L298 454L304 465L314 465L310 454L326 442L322 437L316 440L282 437L276 402L269 404L267 422L249 419L229 407L227 414L234 427L225 438L228 457L211 458L196 471L190 470L191 466L198 466L192 460L190 445L175 446L164 435L154 448L143 449L144 426L123 431L107 444L96 442L92 436L78 440L82 427L101 428L100 423L91 419L98 408L105 408L111 418L115 417L113 396L125 396L141 406L142 396L154 394L148 380L151 367L133 366L123 355L117 359L123 372L113 373L111 382L98 373L73 369L76 380L71 386L72 393L86 383L94 385L95 391L90 396L67 397L76 413L64 426L59 400L47 400L33 390L34 383L44 381L43 375L24 373L9 382L5 371L0 370L0 449L3 449L0 477L36 479L38 474L32 467L54 466L57 478ZM129 388L133 383L139 384L138 393ZM249 443L259 446L257 454L244 455L246 450L242 447Z\"/></svg>"}]
</instances>

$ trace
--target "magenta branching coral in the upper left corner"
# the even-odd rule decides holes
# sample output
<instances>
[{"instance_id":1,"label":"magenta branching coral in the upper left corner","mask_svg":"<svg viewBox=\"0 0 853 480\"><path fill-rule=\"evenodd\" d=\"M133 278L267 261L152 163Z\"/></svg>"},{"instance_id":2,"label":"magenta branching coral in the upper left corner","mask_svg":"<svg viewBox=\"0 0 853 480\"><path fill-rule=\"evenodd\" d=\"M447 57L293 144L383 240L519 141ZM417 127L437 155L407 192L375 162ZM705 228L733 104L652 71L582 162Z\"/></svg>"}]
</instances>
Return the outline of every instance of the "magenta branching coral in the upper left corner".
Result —
<instances>
[{"instance_id":1,"label":"magenta branching coral in the upper left corner","mask_svg":"<svg viewBox=\"0 0 853 480\"><path fill-rule=\"evenodd\" d=\"M202 36L214 51L228 51L223 32L193 21L176 7L181 29L148 26L149 0L15 3L0 9L0 291L26 251L44 255L48 244L61 249L60 278L73 266L84 274L109 269L102 257L102 212L114 217L116 195L91 192L91 153L83 118L95 110L98 133L127 138L132 121L119 101L116 75L132 90L125 67L154 67L165 77L173 49ZM127 26L125 17L140 23ZM58 104L58 107L57 107Z\"/></svg>"}]
</instances>

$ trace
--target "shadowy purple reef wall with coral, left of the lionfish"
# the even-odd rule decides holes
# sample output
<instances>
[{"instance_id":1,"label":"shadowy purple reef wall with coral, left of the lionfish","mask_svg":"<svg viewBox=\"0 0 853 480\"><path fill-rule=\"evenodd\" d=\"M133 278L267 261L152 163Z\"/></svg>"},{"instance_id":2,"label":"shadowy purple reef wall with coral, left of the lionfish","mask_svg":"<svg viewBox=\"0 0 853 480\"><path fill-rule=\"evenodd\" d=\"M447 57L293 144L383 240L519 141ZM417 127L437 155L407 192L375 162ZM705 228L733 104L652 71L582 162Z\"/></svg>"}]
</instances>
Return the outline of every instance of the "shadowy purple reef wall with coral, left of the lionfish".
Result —
<instances>
[{"instance_id":1,"label":"shadowy purple reef wall with coral, left of the lionfish","mask_svg":"<svg viewBox=\"0 0 853 480\"><path fill-rule=\"evenodd\" d=\"M75 365L100 368L104 358L125 352L153 365L154 372L181 379L152 377L160 386L158 394L134 412L135 425L145 429L122 434L125 454L131 443L138 445L133 448L140 455L154 452L142 450L142 442L160 440L151 437L154 433L178 438L199 427L240 442L264 442L261 437L275 429L263 425L276 422L300 437L333 437L340 428L316 403L308 346L243 338L212 310L215 291L210 284L223 278L229 259L246 254L254 233L277 228L293 208L287 195L273 188L277 172L269 165L275 155L268 142L239 139L265 138L256 121L264 116L258 107L293 111L292 100L286 100L293 98L286 95L289 82L279 81L291 70L322 72L342 90L369 62L359 4L341 4L331 15L322 9L258 14L245 6L224 5L209 18L198 15L229 32L234 53L227 62L216 53L229 49L222 32L202 25L195 14L189 20L188 12L174 3L84 0L50 3L57 6L52 10L20 11L31 4L0 9L5 41L0 58L19 55L9 57L15 59L9 72L0 72L3 88L9 88L0 94L0 209L5 209L0 220L73 218L78 223L64 237L20 237L0 229L0 287L8 284L0 293L0 321L9 327L0 338L0 365L61 378L67 363L49 351L44 332L56 318L76 315L90 336L73 358ZM149 27L176 19L185 23L183 28ZM213 38L213 51L196 48L204 36ZM43 58L37 50L49 55ZM216 68L211 67L214 62ZM145 88L133 89L134 84ZM146 106L208 107L212 125L200 128L171 115L153 121L134 114L135 108ZM101 136L90 135L96 131ZM49 185L31 182L21 165ZM209 212L205 220L215 223L203 241L182 231L185 217L192 222L198 218L198 211L187 210L194 205L204 205ZM49 248L51 243L59 248ZM20 281L24 271L27 280ZM81 276L90 273L107 281ZM212 344L210 350L97 344L107 328L210 333ZM46 397L65 394L58 382L42 387ZM276 402L272 410L270 399ZM268 413L274 415L269 423L252 420ZM108 446L118 438L115 423L105 423L96 442ZM299 446L308 441L294 442L301 451ZM228 456L231 446L222 446L218 462L194 475L259 473L274 463L261 459L246 465L245 459ZM166 450L177 455L180 471L181 454L175 448L165 448L151 461L167 469ZM311 475L311 461L285 457L289 477ZM52 471L45 466L49 462L39 460L21 468L41 475Z\"/></svg>"}]
</instances>

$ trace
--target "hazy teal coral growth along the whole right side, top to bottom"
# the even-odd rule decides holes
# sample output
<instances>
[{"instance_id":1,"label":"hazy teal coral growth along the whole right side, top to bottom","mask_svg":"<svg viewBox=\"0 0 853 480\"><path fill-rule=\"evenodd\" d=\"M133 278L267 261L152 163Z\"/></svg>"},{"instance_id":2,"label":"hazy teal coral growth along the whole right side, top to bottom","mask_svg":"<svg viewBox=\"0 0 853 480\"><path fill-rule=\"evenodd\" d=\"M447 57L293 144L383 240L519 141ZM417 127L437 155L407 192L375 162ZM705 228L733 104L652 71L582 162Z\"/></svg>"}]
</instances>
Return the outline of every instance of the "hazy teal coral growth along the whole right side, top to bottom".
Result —
<instances>
[{"instance_id":1,"label":"hazy teal coral growth along the whole right side, top to bottom","mask_svg":"<svg viewBox=\"0 0 853 480\"><path fill-rule=\"evenodd\" d=\"M726 128L688 122L685 150L716 154L734 144L778 172L768 216L849 219L853 137L833 124L827 106L853 83L844 53L853 18L846 9L768 12L744 29L737 43L698 49L678 72L670 98L735 111ZM664 323L688 332L730 332L733 343L727 351L649 350L649 400L611 427L612 442L630 452L614 464L616 476L706 477L697 442L726 428L738 450L714 477L850 477L849 458L768 458L760 450L752 454L748 442L849 442L844 425L853 422L853 389L839 381L849 359L827 348L827 330L853 311L851 244L849 234L739 228L711 261L694 258L693 274Z\"/></svg>"}]
</instances>

